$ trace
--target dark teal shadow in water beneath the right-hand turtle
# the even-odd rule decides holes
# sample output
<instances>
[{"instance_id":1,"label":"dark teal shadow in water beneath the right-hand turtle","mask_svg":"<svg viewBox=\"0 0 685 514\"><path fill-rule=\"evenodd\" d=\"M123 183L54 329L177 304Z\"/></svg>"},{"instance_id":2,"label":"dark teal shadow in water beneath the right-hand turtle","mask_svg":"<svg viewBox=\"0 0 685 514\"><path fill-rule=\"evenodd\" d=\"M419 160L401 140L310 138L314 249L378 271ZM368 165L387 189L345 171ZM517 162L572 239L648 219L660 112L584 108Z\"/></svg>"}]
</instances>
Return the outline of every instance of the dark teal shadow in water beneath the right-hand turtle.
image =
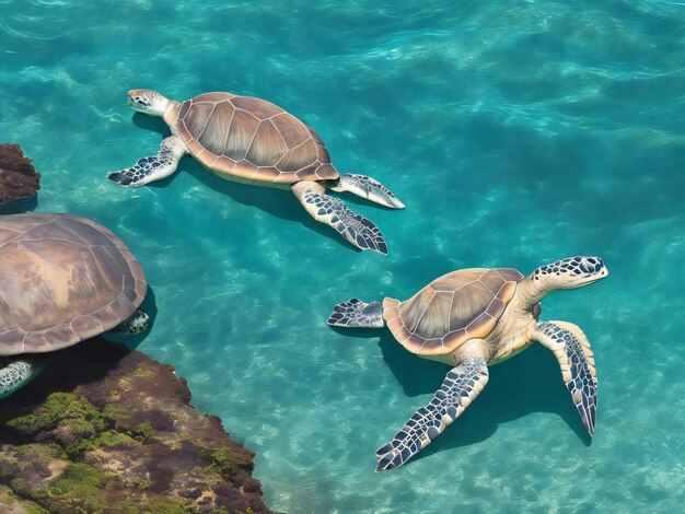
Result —
<instances>
[{"instance_id":1,"label":"dark teal shadow in water beneath the right-hand turtle","mask_svg":"<svg viewBox=\"0 0 685 514\"><path fill-rule=\"evenodd\" d=\"M345 334L349 336L351 331ZM355 331L357 337L378 337L378 332L371 329ZM430 400L427 395L432 395L440 387L449 366L411 354L387 330L381 336L378 347L404 394L416 398L416 408L426 405ZM445 449L486 441L497 432L500 424L533 412L558 414L579 440L590 446L591 439L568 398L559 364L549 350L542 344L533 344L513 359L490 366L489 371L488 384L478 398L440 437L415 456L417 460ZM411 413L410 409L396 412L394 424L379 433L379 442L390 437Z\"/></svg>"}]
</instances>

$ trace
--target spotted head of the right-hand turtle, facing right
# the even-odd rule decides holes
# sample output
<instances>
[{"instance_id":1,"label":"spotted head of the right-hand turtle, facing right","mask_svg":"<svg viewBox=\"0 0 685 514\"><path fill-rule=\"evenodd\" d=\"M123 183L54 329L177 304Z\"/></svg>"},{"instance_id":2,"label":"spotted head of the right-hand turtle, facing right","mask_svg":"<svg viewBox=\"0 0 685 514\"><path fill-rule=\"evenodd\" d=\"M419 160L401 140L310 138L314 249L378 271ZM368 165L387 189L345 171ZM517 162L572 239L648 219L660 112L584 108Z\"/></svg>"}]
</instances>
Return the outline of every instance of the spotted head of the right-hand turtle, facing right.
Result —
<instances>
[{"instance_id":1,"label":"spotted head of the right-hand turtle, facing right","mask_svg":"<svg viewBox=\"0 0 685 514\"><path fill-rule=\"evenodd\" d=\"M606 276L608 270L600 257L576 256L541 266L531 278L545 289L556 290L582 288Z\"/></svg>"}]
</instances>

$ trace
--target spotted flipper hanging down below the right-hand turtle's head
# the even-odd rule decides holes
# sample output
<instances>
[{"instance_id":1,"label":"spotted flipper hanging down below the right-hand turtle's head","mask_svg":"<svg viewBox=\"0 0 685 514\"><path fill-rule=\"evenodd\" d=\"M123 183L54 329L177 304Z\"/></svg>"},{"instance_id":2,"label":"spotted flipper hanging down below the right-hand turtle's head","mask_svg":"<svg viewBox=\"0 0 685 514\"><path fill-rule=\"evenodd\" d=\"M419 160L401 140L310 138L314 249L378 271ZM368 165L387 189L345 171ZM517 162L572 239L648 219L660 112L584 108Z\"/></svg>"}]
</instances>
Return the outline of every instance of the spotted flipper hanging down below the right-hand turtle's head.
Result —
<instances>
[{"instance_id":1,"label":"spotted flipper hanging down below the right-hand turtle's head","mask_svg":"<svg viewBox=\"0 0 685 514\"><path fill-rule=\"evenodd\" d=\"M592 437L597 411L597 376L588 338L580 327L566 322L541 323L533 338L552 350L559 361L566 388Z\"/></svg>"}]
</instances>

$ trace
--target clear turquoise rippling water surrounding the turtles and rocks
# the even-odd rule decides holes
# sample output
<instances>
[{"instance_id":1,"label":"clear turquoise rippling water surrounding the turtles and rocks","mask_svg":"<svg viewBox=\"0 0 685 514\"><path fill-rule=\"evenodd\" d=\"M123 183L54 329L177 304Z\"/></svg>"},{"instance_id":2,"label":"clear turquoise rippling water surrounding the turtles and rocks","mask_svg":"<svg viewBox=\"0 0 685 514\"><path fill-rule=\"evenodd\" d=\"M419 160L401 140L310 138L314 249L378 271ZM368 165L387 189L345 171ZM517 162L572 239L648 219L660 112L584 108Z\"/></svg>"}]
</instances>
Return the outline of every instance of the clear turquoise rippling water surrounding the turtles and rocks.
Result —
<instances>
[{"instance_id":1,"label":"clear turquoise rippling water surrounding the turtles and rocks","mask_svg":"<svg viewBox=\"0 0 685 514\"><path fill-rule=\"evenodd\" d=\"M0 1L0 139L44 173L37 210L93 218L130 246L159 308L139 349L257 453L272 509L682 507L681 4ZM390 256L355 252L288 192L190 159L150 187L107 184L164 131L126 108L132 87L231 91L301 117L339 170L407 205L345 196ZM609 278L548 297L543 318L579 324L593 346L592 444L554 357L534 347L492 367L420 458L375 474L375 448L446 370L387 332L329 329L330 307L576 254L602 256Z\"/></svg>"}]
</instances>

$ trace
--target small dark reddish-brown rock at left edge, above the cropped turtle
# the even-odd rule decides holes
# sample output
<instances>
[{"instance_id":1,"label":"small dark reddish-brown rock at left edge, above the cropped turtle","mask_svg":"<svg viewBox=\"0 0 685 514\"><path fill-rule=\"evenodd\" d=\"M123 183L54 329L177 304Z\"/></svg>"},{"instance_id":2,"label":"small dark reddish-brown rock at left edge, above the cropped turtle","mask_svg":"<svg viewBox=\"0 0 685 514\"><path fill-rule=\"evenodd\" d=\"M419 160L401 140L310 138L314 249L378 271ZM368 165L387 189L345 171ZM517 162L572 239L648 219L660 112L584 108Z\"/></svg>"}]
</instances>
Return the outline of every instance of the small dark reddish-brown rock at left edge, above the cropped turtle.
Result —
<instances>
[{"instance_id":1,"label":"small dark reddish-brown rock at left edge, above the cropped turtle","mask_svg":"<svg viewBox=\"0 0 685 514\"><path fill-rule=\"evenodd\" d=\"M40 174L19 144L0 144L0 203L33 197L39 182Z\"/></svg>"}]
</instances>

